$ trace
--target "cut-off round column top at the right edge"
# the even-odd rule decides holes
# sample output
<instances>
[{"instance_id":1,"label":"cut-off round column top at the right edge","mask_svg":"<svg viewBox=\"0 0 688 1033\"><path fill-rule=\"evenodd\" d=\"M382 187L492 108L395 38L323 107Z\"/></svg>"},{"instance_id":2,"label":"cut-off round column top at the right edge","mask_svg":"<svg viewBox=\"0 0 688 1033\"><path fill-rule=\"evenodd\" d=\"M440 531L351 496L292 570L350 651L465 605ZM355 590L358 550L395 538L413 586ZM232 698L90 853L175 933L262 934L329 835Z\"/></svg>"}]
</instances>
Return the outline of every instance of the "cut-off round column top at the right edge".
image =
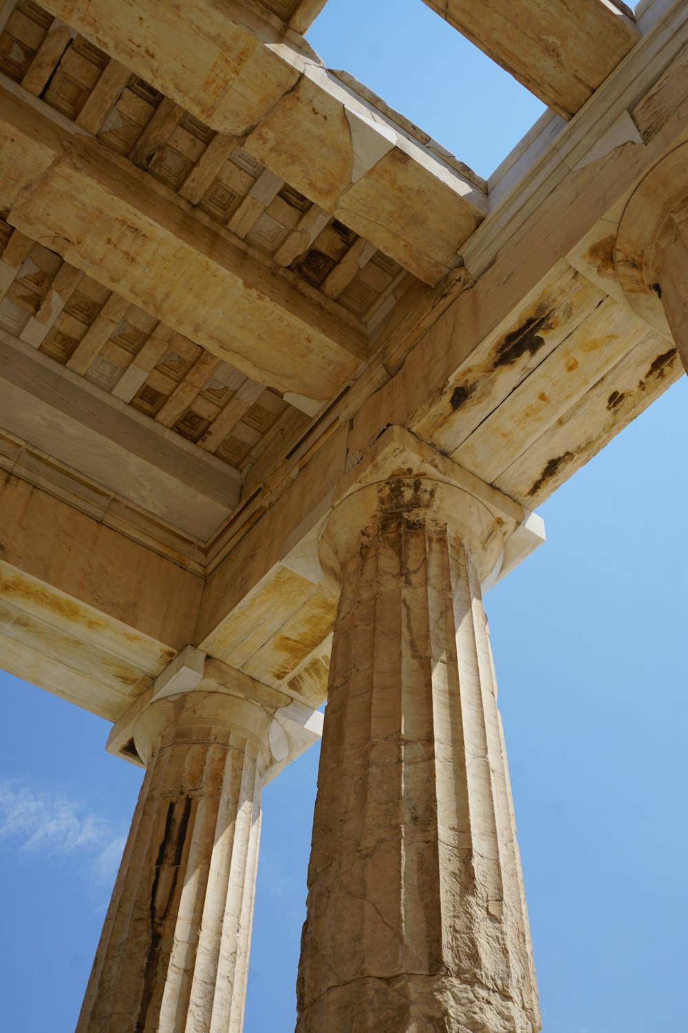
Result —
<instances>
[{"instance_id":1,"label":"cut-off round column top at the right edge","mask_svg":"<svg viewBox=\"0 0 688 1033\"><path fill-rule=\"evenodd\" d=\"M676 346L688 372L688 144L662 158L631 194L615 262L631 308Z\"/></svg>"}]
</instances>

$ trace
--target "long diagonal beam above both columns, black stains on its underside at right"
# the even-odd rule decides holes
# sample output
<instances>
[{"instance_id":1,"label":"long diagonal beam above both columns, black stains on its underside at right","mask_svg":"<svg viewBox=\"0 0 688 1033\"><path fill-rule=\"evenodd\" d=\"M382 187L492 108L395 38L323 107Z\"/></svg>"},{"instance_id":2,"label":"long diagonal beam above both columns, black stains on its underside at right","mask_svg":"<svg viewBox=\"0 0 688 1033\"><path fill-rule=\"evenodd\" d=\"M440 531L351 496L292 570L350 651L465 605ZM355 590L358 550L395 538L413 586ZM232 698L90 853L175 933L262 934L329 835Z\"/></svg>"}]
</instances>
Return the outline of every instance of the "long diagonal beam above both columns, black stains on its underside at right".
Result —
<instances>
[{"instance_id":1,"label":"long diagonal beam above both columns, black stains on its underside at right","mask_svg":"<svg viewBox=\"0 0 688 1033\"><path fill-rule=\"evenodd\" d=\"M293 457L262 476L252 471L252 490L258 494L242 515L243 530L233 529L232 543L224 552L215 549L210 558L197 628L197 641L207 639L204 649L240 666L254 648L252 635L262 635L263 643L280 639L298 607L314 598L319 578L298 544L318 533L345 471L356 466L388 421L411 421L431 443L441 433L452 450L457 448L460 442L449 439L464 419L466 436L470 433L462 400L479 363L482 381L467 406L474 404L479 424L520 383L527 420L531 402L550 406L549 396L539 399L540 392L547 395L549 373L555 370L563 378L572 371L566 411L543 409L539 436L527 440L523 455L509 457L507 469L492 470L497 487L528 509L676 379L680 364L670 344L630 312L624 321L621 303L605 294L603 282L582 277L563 256L591 227L605 225L633 183L685 132L687 36L688 4L681 4L644 37L647 66L642 67L638 48L564 128L556 150L532 163L509 205L517 208L520 201L525 210L513 234L502 221L503 210L477 231L471 241L480 269L476 280L462 280L458 296L429 330L424 324L411 348L406 340L403 354L384 351L331 421L314 430L298 449L290 445ZM619 142L615 124L628 106L636 135L629 132L624 139L622 132ZM610 129L609 149L591 157L591 135ZM608 250L607 264L613 268L613 247ZM603 264L603 255L599 260ZM539 366L542 386L535 389ZM228 556L231 562L225 562ZM239 576L231 578L230 569L239 570ZM259 625L250 617L255 604ZM293 636L284 637L294 646Z\"/></svg>"}]
</instances>

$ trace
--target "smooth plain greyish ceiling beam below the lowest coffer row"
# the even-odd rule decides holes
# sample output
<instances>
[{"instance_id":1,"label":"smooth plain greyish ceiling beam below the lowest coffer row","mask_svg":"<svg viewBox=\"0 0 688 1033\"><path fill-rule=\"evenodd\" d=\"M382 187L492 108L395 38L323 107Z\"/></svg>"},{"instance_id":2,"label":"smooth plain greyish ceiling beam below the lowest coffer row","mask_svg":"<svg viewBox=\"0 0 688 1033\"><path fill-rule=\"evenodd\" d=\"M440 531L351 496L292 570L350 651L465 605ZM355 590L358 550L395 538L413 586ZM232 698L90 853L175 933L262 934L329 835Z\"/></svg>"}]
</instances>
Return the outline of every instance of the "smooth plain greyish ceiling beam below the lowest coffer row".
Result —
<instances>
[{"instance_id":1,"label":"smooth plain greyish ceiling beam below the lowest coffer row","mask_svg":"<svg viewBox=\"0 0 688 1033\"><path fill-rule=\"evenodd\" d=\"M238 470L3 331L0 370L3 429L134 505L200 541L237 505Z\"/></svg>"}]
</instances>

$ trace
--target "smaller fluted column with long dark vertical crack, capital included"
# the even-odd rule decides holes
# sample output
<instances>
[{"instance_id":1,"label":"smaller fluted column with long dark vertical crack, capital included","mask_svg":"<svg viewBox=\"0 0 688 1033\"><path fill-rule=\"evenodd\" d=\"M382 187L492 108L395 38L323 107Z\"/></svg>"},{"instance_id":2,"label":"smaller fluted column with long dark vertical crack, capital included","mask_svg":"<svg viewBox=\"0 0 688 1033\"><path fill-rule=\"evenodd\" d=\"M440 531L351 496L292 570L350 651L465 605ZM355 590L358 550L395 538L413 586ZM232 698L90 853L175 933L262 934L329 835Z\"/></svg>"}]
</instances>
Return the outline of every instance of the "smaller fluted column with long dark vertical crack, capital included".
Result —
<instances>
[{"instance_id":1,"label":"smaller fluted column with long dark vertical crack, capital included","mask_svg":"<svg viewBox=\"0 0 688 1033\"><path fill-rule=\"evenodd\" d=\"M187 647L116 724L146 772L76 1033L239 1033L262 786L320 718Z\"/></svg>"}]
</instances>

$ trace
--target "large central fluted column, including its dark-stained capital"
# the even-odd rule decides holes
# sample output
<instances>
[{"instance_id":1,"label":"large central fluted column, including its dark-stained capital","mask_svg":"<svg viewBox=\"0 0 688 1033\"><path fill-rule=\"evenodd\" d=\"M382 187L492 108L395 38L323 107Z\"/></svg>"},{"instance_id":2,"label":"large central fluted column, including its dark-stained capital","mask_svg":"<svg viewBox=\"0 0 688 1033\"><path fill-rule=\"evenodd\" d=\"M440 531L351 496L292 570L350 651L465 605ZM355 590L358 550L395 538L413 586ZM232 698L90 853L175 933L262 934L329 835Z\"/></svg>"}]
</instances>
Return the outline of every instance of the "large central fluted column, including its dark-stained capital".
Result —
<instances>
[{"instance_id":1,"label":"large central fluted column, including its dark-stained capital","mask_svg":"<svg viewBox=\"0 0 688 1033\"><path fill-rule=\"evenodd\" d=\"M536 1033L481 596L528 514L399 428L335 503L297 1033Z\"/></svg>"}]
</instances>

